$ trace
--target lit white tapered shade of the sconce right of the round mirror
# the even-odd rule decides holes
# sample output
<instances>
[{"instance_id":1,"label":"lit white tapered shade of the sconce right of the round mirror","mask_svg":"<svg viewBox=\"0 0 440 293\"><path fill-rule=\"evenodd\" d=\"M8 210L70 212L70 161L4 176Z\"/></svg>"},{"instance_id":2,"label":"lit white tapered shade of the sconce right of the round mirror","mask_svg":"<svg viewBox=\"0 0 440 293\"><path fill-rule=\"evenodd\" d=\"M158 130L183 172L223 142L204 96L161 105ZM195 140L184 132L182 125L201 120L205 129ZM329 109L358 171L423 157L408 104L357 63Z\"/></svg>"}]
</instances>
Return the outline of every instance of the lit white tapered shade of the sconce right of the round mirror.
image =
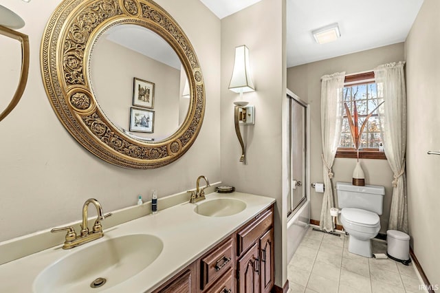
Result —
<instances>
[{"instance_id":1,"label":"lit white tapered shade of the sconce right of the round mirror","mask_svg":"<svg viewBox=\"0 0 440 293\"><path fill-rule=\"evenodd\" d=\"M249 49L245 45L235 48L234 71L232 72L229 89L237 94L255 90L250 74Z\"/></svg>"}]
</instances>

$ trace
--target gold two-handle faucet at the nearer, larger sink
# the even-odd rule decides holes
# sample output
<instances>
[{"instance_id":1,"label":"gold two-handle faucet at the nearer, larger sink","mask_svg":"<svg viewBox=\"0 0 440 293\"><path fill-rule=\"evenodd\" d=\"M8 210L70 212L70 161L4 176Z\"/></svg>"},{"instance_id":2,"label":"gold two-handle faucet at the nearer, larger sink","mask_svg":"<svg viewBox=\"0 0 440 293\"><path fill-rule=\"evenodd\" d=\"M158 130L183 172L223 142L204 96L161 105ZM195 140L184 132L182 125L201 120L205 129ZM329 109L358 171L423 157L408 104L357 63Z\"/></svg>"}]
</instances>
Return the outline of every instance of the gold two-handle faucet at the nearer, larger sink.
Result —
<instances>
[{"instance_id":1,"label":"gold two-handle faucet at the nearer, larger sink","mask_svg":"<svg viewBox=\"0 0 440 293\"><path fill-rule=\"evenodd\" d=\"M98 214L98 217L95 221L95 224L91 232L89 231L89 227L87 226L87 214L89 210L89 204L95 205L96 213ZM110 217L110 216L111 213L108 213L107 215L103 215L102 206L97 199L89 198L85 201L83 205L83 224L81 224L81 235L77 236L72 226L63 227L63 228L54 228L51 230L51 232L53 233L53 232L60 232L67 230L67 235L65 237L63 249L74 248L76 246L83 245L84 243L94 241L96 239L100 239L102 236L104 236L104 232L102 232L101 221L104 220L106 217Z\"/></svg>"}]
</instances>

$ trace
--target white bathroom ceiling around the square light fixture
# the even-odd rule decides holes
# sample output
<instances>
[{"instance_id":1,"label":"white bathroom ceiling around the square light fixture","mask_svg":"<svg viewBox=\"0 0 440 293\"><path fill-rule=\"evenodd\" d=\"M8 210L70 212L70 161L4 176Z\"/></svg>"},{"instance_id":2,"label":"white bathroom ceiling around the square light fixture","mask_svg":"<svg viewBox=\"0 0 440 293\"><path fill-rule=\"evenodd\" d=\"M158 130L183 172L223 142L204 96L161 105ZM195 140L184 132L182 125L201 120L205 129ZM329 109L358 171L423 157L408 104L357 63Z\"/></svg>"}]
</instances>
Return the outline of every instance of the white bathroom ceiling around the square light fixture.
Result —
<instances>
[{"instance_id":1,"label":"white bathroom ceiling around the square light fixture","mask_svg":"<svg viewBox=\"0 0 440 293\"><path fill-rule=\"evenodd\" d=\"M259 0L200 0L220 19ZM287 67L406 40L423 0L286 0ZM341 37L319 45L311 31L338 23Z\"/></svg>"}]
</instances>

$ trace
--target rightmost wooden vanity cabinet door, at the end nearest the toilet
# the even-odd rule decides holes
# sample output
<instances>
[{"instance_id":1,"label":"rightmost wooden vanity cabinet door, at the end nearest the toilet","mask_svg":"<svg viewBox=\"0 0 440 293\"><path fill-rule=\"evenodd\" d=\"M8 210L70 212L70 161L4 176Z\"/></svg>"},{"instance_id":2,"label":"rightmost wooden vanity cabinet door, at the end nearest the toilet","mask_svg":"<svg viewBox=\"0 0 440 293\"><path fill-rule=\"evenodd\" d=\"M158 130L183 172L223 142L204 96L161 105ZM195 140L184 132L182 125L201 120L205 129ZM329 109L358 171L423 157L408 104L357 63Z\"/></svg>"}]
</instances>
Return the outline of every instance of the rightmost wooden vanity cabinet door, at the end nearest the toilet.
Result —
<instances>
[{"instance_id":1,"label":"rightmost wooden vanity cabinet door, at the end nearest the toilet","mask_svg":"<svg viewBox=\"0 0 440 293\"><path fill-rule=\"evenodd\" d=\"M260 238L261 292L269 293L274 286L274 228Z\"/></svg>"}]
</instances>

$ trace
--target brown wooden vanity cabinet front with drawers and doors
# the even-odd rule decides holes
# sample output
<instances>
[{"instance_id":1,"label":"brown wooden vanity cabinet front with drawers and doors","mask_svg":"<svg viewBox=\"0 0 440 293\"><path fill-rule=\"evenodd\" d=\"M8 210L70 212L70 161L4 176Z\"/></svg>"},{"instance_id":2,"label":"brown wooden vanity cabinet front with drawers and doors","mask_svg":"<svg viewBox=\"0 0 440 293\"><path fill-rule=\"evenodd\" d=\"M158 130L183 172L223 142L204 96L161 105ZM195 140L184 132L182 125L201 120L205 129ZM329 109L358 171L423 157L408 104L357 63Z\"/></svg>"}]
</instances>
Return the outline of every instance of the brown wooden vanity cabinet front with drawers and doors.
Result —
<instances>
[{"instance_id":1,"label":"brown wooden vanity cabinet front with drawers and doors","mask_svg":"<svg viewBox=\"0 0 440 293\"><path fill-rule=\"evenodd\" d=\"M269 293L273 286L272 205L153 292Z\"/></svg>"}]
</instances>

